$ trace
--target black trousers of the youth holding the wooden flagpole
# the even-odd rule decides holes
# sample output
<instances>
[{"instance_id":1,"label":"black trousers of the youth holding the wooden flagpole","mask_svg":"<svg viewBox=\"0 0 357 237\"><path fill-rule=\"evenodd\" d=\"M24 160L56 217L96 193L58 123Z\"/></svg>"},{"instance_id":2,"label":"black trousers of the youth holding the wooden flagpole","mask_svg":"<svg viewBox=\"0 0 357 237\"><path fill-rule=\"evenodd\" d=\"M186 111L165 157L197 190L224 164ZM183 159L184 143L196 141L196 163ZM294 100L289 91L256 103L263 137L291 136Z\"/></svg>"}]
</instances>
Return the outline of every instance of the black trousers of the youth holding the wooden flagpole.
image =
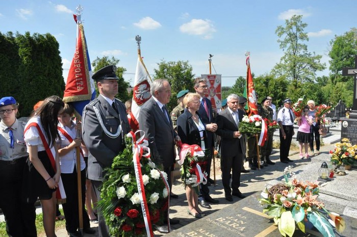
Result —
<instances>
[{"instance_id":1,"label":"black trousers of the youth holding the wooden flagpole","mask_svg":"<svg viewBox=\"0 0 357 237\"><path fill-rule=\"evenodd\" d=\"M78 188L77 188L77 169L74 166L73 173L61 174L63 188L66 192L66 202L62 204L63 213L66 217L66 230L68 232L75 232L80 227L79 223L79 203L78 203ZM89 228L89 217L85 209L86 201L86 170L81 171L81 190L82 190L82 215L83 228Z\"/></svg>"}]
</instances>

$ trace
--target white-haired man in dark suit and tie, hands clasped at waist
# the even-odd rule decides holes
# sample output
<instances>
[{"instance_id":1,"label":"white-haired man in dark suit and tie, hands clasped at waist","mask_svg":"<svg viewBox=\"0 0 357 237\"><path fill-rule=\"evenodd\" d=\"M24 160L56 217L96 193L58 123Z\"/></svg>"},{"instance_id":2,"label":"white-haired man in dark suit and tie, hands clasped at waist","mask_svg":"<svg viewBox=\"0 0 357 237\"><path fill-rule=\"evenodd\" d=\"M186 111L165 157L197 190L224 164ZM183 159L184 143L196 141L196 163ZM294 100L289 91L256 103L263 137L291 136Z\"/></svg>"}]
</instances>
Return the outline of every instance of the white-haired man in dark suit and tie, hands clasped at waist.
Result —
<instances>
[{"instance_id":1,"label":"white-haired man in dark suit and tie, hands clasped at waist","mask_svg":"<svg viewBox=\"0 0 357 237\"><path fill-rule=\"evenodd\" d=\"M238 103L238 95L228 95L228 108L217 116L217 134L221 136L222 183L224 196L227 201L233 201L232 195L245 198L239 191L246 142L244 135L239 132L239 122L242 121L245 113L242 110L238 110ZM230 186L231 176L232 188Z\"/></svg>"}]
</instances>

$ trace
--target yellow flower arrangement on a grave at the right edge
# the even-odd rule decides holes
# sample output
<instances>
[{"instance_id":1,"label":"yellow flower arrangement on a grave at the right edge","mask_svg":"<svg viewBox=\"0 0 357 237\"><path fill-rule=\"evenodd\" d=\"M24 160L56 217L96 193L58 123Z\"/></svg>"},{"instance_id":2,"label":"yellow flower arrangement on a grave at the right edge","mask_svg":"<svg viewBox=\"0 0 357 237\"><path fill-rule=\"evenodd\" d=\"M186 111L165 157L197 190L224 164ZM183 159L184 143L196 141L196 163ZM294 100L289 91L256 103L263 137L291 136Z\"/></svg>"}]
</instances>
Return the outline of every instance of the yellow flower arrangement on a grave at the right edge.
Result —
<instances>
[{"instance_id":1,"label":"yellow flower arrangement on a grave at the right edge","mask_svg":"<svg viewBox=\"0 0 357 237\"><path fill-rule=\"evenodd\" d=\"M341 142L335 144L335 150L330 150L331 162L334 165L356 165L357 145L352 145L348 138L342 138Z\"/></svg>"}]
</instances>

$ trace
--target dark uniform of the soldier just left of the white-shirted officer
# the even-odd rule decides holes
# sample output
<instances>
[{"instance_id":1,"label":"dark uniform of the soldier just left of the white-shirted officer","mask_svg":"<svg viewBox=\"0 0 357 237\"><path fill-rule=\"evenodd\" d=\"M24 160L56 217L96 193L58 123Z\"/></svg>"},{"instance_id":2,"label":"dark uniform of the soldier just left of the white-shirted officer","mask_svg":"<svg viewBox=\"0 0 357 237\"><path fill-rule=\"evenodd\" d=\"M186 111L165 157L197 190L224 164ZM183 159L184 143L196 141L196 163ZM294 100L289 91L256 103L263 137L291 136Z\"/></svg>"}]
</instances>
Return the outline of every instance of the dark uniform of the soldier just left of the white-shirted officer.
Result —
<instances>
[{"instance_id":1,"label":"dark uniform of the soldier just left of the white-shirted officer","mask_svg":"<svg viewBox=\"0 0 357 237\"><path fill-rule=\"evenodd\" d=\"M273 116L274 116L274 111L272 108L268 107L268 109L265 109L264 107L264 102L268 98L265 97L262 100L262 106L259 108L259 115L262 116L263 119L267 118L270 122L273 121ZM273 150L273 131L268 131L268 136L267 140L264 143L264 146L261 147L261 157L262 160L264 160L266 165L274 165L272 161L269 159L269 155L271 154L271 151Z\"/></svg>"}]
</instances>

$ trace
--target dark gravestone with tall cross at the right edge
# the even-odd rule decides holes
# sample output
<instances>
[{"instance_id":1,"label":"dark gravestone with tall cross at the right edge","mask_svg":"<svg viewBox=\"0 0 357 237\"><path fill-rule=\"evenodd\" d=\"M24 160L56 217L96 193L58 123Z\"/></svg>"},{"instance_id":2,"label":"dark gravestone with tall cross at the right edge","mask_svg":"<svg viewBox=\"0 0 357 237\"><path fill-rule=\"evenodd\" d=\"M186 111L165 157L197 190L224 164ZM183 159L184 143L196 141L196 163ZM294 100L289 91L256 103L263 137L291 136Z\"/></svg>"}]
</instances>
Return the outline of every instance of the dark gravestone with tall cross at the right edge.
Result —
<instances>
[{"instance_id":1,"label":"dark gravestone with tall cross at the right edge","mask_svg":"<svg viewBox=\"0 0 357 237\"><path fill-rule=\"evenodd\" d=\"M349 114L349 119L342 119L341 138L348 138L352 142L352 144L357 144L357 138L355 137L355 131L357 130L354 128L357 124L357 55L354 56L354 68L342 68L342 75L353 76L354 86L352 111Z\"/></svg>"}]
</instances>

